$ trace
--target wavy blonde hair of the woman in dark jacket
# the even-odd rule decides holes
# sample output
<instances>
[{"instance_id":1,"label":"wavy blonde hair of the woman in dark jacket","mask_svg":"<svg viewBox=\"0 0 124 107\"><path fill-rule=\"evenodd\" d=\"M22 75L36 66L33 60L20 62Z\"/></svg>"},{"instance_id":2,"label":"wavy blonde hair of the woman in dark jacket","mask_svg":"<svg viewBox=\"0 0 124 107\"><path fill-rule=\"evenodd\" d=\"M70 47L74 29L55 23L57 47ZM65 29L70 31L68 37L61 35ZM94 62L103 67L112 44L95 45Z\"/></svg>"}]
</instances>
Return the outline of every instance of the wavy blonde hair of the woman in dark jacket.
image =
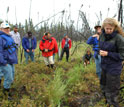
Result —
<instances>
[{"instance_id":1,"label":"wavy blonde hair of the woman in dark jacket","mask_svg":"<svg viewBox=\"0 0 124 107\"><path fill-rule=\"evenodd\" d=\"M104 21L103 21L103 24L102 24L102 29L104 29L104 27L106 25L111 25L111 26L114 26L115 27L115 30L114 31L118 31L118 33L122 36L124 36L124 32L123 32L123 29L122 27L120 26L119 22L114 19L114 18L106 18Z\"/></svg>"}]
</instances>

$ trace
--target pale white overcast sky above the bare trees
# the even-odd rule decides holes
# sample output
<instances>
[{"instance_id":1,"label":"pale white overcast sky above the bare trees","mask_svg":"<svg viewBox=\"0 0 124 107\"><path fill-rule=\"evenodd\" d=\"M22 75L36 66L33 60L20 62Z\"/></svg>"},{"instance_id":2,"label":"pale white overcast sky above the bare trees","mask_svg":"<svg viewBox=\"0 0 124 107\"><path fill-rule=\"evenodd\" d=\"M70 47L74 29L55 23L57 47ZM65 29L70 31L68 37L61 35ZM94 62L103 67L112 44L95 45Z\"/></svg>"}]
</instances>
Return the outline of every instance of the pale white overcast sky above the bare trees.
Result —
<instances>
[{"instance_id":1,"label":"pale white overcast sky above the bare trees","mask_svg":"<svg viewBox=\"0 0 124 107\"><path fill-rule=\"evenodd\" d=\"M29 19L30 1L31 0L0 0L0 19L8 19L11 23L16 24L17 17L17 23L21 22L24 24L25 19ZM100 16L100 11L102 12L102 21L106 17L113 17L117 14L117 1L118 0L32 0L31 18L33 23L37 24L65 9L67 13L70 11L71 19L76 23L80 7L83 4L81 11L86 13L88 21L91 25L94 25L98 21L97 16ZM69 4L71 4L70 9ZM9 12L7 14L8 6ZM61 19L56 18L55 21L58 20Z\"/></svg>"}]
</instances>

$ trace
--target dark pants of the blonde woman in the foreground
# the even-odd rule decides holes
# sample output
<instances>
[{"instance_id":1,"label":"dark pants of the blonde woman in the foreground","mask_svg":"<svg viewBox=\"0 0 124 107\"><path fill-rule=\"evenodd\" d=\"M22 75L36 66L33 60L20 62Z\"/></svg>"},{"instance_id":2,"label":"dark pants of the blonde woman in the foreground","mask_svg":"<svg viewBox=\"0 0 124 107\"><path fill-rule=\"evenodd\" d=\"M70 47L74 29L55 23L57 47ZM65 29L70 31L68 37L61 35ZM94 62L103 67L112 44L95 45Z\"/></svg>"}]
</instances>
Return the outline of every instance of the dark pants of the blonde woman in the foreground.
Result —
<instances>
[{"instance_id":1,"label":"dark pants of the blonde woman in the foreground","mask_svg":"<svg viewBox=\"0 0 124 107\"><path fill-rule=\"evenodd\" d=\"M114 107L119 107L120 75L112 75L106 71L102 71L100 85L107 103Z\"/></svg>"}]
</instances>

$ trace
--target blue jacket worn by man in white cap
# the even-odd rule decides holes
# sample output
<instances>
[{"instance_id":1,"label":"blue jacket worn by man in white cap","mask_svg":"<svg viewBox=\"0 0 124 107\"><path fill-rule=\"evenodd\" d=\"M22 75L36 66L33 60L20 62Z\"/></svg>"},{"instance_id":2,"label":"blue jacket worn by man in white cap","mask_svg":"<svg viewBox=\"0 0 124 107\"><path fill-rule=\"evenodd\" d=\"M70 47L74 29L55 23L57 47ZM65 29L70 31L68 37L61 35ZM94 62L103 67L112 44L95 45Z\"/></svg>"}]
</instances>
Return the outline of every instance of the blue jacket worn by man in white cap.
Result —
<instances>
[{"instance_id":1,"label":"blue jacket worn by man in white cap","mask_svg":"<svg viewBox=\"0 0 124 107\"><path fill-rule=\"evenodd\" d=\"M5 38L8 38L8 40ZM5 66L6 64L17 64L17 54L13 44L14 40L11 36L0 31L0 66Z\"/></svg>"}]
</instances>

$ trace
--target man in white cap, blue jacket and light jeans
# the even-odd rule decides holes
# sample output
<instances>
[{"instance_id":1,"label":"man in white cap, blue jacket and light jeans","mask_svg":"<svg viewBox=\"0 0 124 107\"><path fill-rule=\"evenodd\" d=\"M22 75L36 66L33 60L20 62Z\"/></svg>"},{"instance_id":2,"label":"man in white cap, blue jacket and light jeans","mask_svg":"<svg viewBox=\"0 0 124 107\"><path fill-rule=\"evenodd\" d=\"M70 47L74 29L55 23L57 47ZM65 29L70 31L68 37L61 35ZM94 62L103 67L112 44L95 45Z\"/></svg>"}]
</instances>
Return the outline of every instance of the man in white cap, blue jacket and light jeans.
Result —
<instances>
[{"instance_id":1,"label":"man in white cap, blue jacket and light jeans","mask_svg":"<svg viewBox=\"0 0 124 107\"><path fill-rule=\"evenodd\" d=\"M10 96L11 84L14 80L15 68L14 64L17 64L16 44L10 36L10 26L8 23L1 24L0 31L0 72L4 77L4 89L5 95ZM1 83L0 76L0 83Z\"/></svg>"}]
</instances>

